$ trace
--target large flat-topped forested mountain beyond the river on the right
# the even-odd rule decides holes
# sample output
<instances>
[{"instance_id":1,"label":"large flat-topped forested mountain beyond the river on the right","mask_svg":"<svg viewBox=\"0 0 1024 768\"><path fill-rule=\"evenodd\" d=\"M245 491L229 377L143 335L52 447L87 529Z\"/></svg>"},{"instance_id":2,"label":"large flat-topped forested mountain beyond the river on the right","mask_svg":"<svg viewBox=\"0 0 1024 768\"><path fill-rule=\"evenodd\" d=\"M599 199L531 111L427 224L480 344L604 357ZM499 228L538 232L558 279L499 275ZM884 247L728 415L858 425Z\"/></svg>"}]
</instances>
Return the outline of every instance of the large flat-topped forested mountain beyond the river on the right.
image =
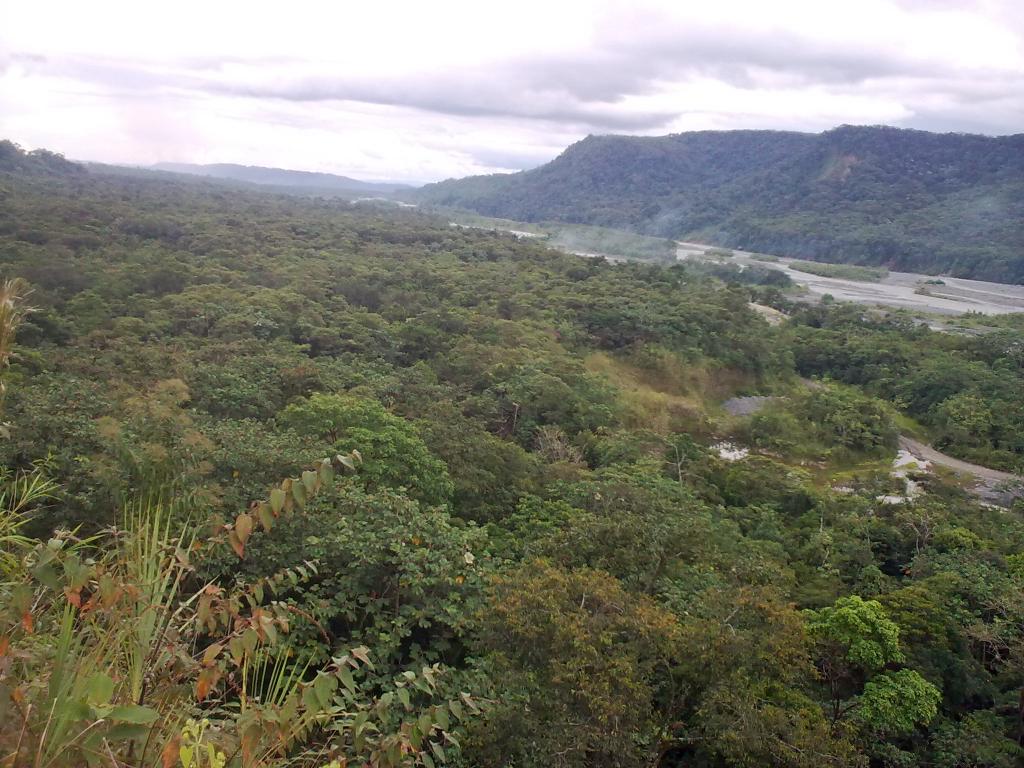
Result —
<instances>
[{"instance_id":1,"label":"large flat-topped forested mountain beyond the river on the right","mask_svg":"<svg viewBox=\"0 0 1024 768\"><path fill-rule=\"evenodd\" d=\"M588 136L539 168L408 197L523 221L1024 283L1024 134L841 126Z\"/></svg>"}]
</instances>

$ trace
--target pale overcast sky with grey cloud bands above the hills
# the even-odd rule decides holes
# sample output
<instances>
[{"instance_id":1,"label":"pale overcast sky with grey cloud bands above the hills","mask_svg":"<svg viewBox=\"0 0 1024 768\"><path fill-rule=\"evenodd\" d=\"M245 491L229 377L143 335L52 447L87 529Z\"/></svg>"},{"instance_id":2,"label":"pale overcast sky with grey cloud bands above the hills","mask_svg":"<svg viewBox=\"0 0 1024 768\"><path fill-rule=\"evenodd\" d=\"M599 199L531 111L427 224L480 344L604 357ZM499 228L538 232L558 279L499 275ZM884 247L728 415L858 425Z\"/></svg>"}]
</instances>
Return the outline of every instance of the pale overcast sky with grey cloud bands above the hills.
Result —
<instances>
[{"instance_id":1,"label":"pale overcast sky with grey cloud bands above the hills","mask_svg":"<svg viewBox=\"0 0 1024 768\"><path fill-rule=\"evenodd\" d=\"M1024 132L1024 0L0 0L0 138L424 182L588 134Z\"/></svg>"}]
</instances>

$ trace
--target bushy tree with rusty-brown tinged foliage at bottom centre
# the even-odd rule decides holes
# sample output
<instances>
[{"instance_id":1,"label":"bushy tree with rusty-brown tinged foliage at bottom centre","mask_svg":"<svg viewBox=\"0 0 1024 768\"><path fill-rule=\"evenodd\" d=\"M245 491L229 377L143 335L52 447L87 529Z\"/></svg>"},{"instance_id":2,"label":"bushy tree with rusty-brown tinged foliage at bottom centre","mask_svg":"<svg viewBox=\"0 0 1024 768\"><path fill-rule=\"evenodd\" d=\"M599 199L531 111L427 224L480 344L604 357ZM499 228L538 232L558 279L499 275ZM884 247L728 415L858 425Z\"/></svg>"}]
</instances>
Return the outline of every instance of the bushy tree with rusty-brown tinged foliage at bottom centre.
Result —
<instances>
[{"instance_id":1,"label":"bushy tree with rusty-brown tinged foliage at bottom centre","mask_svg":"<svg viewBox=\"0 0 1024 768\"><path fill-rule=\"evenodd\" d=\"M600 571L535 561L498 578L481 643L505 706L475 735L479 765L646 764L678 631Z\"/></svg>"}]
</instances>

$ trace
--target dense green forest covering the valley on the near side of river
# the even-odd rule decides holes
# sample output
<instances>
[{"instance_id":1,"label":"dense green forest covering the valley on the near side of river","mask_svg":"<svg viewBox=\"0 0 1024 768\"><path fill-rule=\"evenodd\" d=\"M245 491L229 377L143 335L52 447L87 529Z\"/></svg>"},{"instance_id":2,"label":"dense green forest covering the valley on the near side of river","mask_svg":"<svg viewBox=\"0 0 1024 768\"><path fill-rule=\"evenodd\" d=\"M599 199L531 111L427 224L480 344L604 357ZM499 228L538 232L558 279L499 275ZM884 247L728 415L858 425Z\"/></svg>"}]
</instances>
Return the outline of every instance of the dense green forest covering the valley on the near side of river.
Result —
<instances>
[{"instance_id":1,"label":"dense green forest covering the valley on the near side of river","mask_svg":"<svg viewBox=\"0 0 1024 768\"><path fill-rule=\"evenodd\" d=\"M0 143L0 764L1020 765L1024 502L891 469L1024 317L730 266Z\"/></svg>"}]
</instances>

